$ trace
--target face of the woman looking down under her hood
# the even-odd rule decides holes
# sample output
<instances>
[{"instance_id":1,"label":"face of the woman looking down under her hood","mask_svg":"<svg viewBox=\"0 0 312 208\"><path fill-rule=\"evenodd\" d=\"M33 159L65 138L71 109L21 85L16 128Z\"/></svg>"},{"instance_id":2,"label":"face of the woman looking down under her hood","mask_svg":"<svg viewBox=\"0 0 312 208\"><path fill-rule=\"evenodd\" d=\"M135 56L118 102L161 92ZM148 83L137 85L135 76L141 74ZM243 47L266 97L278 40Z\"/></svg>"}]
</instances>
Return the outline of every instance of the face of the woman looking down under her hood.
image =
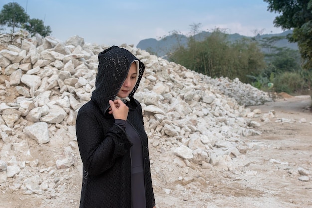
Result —
<instances>
[{"instance_id":1,"label":"face of the woman looking down under her hood","mask_svg":"<svg viewBox=\"0 0 312 208\"><path fill-rule=\"evenodd\" d=\"M129 95L137 82L137 76L137 65L133 62L130 66L127 78L117 94L118 97L125 98Z\"/></svg>"}]
</instances>

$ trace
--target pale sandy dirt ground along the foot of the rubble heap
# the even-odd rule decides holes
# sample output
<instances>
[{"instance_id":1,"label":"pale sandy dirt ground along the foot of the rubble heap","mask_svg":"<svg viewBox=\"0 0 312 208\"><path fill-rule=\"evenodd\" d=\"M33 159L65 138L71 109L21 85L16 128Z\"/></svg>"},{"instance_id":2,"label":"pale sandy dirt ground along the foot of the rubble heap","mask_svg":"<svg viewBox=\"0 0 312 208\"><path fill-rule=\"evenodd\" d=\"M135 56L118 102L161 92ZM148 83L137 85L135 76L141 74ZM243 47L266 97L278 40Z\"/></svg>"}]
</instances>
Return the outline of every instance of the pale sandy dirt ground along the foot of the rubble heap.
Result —
<instances>
[{"instance_id":1,"label":"pale sandy dirt ground along the foot of the rubble heap","mask_svg":"<svg viewBox=\"0 0 312 208\"><path fill-rule=\"evenodd\" d=\"M197 169L204 181L185 186L184 190L178 182L160 187L159 176L152 174L156 208L312 208L310 105L310 96L285 96L261 106L249 106L251 110L261 110L260 117L252 120L261 124L257 131L262 132L244 137L249 163L234 171ZM275 111L275 118L270 123L262 122L261 115L271 110ZM153 155L153 148L151 151ZM309 172L308 181L298 179L298 168ZM80 175L75 173L69 191L54 199L1 190L0 208L78 208ZM180 190L174 190L176 187ZM170 189L170 194L164 188Z\"/></svg>"}]
</instances>

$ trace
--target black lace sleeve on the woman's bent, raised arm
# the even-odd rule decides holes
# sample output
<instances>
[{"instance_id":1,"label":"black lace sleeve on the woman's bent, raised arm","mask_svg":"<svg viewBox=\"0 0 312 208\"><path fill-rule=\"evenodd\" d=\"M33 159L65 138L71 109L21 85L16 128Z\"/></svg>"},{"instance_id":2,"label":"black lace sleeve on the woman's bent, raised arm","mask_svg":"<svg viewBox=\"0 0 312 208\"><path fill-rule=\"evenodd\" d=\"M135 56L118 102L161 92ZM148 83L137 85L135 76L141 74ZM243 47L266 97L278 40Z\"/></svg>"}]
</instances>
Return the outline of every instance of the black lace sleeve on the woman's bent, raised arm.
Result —
<instances>
[{"instance_id":1,"label":"black lace sleeve on the woman's bent, raised arm","mask_svg":"<svg viewBox=\"0 0 312 208\"><path fill-rule=\"evenodd\" d=\"M87 105L78 112L77 141L84 168L90 175L101 174L112 167L116 158L125 155L132 145L124 128L114 124L114 119L110 120ZM109 125L107 132L103 125Z\"/></svg>"}]
</instances>

